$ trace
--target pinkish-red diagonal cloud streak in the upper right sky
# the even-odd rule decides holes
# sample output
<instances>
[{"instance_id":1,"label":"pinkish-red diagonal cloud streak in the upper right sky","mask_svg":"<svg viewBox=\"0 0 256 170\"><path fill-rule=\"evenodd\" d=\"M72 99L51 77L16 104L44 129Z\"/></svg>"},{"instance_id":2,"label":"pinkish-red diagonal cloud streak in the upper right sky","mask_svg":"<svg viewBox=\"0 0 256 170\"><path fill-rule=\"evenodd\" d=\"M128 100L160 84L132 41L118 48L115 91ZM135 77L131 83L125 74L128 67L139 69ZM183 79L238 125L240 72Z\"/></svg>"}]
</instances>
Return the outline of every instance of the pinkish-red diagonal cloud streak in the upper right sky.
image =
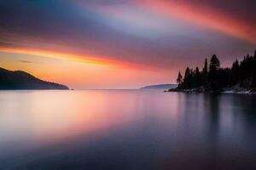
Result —
<instances>
[{"instance_id":1,"label":"pinkish-red diagonal cloud streak in the upper right sky","mask_svg":"<svg viewBox=\"0 0 256 170\"><path fill-rule=\"evenodd\" d=\"M145 8L150 8L152 11L164 14L167 17L174 17L198 26L205 26L256 44L255 24L248 24L244 20L238 20L229 14L218 11L218 9L207 8L205 6L200 7L197 5L198 3L188 5L188 3L182 3L182 1L136 0L136 2Z\"/></svg>"}]
</instances>

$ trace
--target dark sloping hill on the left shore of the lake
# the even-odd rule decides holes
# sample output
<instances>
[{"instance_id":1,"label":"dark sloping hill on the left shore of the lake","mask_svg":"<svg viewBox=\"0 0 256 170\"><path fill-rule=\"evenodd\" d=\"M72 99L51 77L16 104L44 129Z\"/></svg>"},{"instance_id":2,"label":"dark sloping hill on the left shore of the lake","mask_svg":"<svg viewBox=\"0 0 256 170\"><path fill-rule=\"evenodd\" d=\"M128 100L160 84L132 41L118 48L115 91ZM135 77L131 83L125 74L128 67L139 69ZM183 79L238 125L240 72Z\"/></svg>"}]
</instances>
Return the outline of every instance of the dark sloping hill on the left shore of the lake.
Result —
<instances>
[{"instance_id":1,"label":"dark sloping hill on the left shore of the lake","mask_svg":"<svg viewBox=\"0 0 256 170\"><path fill-rule=\"evenodd\" d=\"M0 67L0 89L61 89L68 90L65 85L46 82L25 71L9 71Z\"/></svg>"}]
</instances>

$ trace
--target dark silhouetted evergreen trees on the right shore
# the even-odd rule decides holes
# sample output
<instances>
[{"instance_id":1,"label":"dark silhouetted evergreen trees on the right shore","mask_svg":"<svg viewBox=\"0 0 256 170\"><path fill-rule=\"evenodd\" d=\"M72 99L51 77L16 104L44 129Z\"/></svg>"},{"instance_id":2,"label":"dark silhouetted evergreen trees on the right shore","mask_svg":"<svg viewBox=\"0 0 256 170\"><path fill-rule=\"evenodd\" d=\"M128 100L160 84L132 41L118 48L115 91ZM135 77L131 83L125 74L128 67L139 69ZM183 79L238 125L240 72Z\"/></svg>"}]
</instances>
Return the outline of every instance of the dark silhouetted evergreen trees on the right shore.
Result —
<instances>
[{"instance_id":1,"label":"dark silhouetted evergreen trees on the right shore","mask_svg":"<svg viewBox=\"0 0 256 170\"><path fill-rule=\"evenodd\" d=\"M256 51L253 55L247 54L241 62L236 59L231 68L221 68L218 57L213 54L209 64L205 59L201 71L198 67L187 67L183 76L179 71L177 83L179 89L256 88Z\"/></svg>"}]
</instances>

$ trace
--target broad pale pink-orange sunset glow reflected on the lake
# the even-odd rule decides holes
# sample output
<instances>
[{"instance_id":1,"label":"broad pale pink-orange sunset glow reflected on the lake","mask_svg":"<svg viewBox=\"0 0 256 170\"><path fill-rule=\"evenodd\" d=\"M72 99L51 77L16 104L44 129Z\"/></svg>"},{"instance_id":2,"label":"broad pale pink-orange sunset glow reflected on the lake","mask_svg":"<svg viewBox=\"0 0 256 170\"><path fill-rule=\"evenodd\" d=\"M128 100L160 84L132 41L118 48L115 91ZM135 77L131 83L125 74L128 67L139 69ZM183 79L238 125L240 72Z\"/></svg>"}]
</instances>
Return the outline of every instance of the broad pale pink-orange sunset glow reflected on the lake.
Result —
<instances>
[{"instance_id":1,"label":"broad pale pink-orange sunset glow reflected on the lake","mask_svg":"<svg viewBox=\"0 0 256 170\"><path fill-rule=\"evenodd\" d=\"M164 100L155 99L159 95ZM172 120L179 123L177 100L170 103L166 99L168 97L163 93L136 90L6 92L0 96L0 100L4 98L3 102L6 103L1 103L5 114L2 115L5 123L1 126L9 131L6 139L18 133L21 140L31 139L38 144L49 144L76 137L95 138L133 127L134 123L143 120Z\"/></svg>"}]
</instances>

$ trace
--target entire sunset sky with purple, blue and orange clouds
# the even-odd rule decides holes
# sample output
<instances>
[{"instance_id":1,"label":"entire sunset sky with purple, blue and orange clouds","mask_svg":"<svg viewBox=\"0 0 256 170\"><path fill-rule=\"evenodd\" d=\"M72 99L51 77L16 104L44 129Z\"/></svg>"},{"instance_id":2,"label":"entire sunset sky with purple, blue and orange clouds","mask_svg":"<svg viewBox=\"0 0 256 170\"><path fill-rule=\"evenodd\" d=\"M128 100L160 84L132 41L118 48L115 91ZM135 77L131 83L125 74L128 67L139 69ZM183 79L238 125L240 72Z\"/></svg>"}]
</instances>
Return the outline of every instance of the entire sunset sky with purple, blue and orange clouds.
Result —
<instances>
[{"instance_id":1,"label":"entire sunset sky with purple, blue and orange clouds","mask_svg":"<svg viewBox=\"0 0 256 170\"><path fill-rule=\"evenodd\" d=\"M256 49L254 0L0 0L0 67L75 89L174 83Z\"/></svg>"}]
</instances>

